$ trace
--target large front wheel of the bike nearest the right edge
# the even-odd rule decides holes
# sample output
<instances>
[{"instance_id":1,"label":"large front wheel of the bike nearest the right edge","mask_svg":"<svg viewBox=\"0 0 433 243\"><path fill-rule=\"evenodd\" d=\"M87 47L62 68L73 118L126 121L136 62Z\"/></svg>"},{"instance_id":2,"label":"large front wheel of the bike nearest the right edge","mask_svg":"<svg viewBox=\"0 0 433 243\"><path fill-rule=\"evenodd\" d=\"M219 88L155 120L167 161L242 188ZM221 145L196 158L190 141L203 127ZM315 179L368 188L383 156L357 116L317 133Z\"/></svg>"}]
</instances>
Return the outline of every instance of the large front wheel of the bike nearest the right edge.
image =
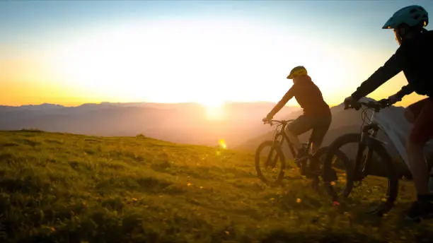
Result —
<instances>
[{"instance_id":1,"label":"large front wheel of the bike nearest the right edge","mask_svg":"<svg viewBox=\"0 0 433 243\"><path fill-rule=\"evenodd\" d=\"M344 201L351 206L362 208L362 211L381 216L393 208L398 194L398 177L391 156L379 141L371 141L369 146L360 146L359 141L361 141L361 134L345 134L329 146L323 165L323 183L333 201ZM350 143L355 146L354 149L344 149ZM340 194L335 190L337 183L331 178L334 172L332 158L338 150L356 155L352 162L344 166L347 180ZM360 163L358 173L354 172L354 161ZM369 185L372 186L371 189L366 188ZM361 189L363 192L356 194L354 189Z\"/></svg>"}]
</instances>

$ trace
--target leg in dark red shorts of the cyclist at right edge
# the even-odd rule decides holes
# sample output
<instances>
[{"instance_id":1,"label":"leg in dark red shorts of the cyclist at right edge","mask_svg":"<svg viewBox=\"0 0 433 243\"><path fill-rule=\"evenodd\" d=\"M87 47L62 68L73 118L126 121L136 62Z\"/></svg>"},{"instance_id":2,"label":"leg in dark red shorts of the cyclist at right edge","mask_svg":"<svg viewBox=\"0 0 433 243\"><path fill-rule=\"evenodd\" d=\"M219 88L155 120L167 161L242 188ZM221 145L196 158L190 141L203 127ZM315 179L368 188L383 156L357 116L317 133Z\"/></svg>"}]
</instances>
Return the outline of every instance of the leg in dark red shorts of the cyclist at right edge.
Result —
<instances>
[{"instance_id":1,"label":"leg in dark red shorts of the cyclist at right edge","mask_svg":"<svg viewBox=\"0 0 433 243\"><path fill-rule=\"evenodd\" d=\"M410 172L417 190L417 201L413 203L406 214L409 218L418 219L433 216L433 195L429 194L429 171L423 148L429 139L433 138L433 101L429 98L410 105L405 117L413 127L407 142Z\"/></svg>"}]
</instances>

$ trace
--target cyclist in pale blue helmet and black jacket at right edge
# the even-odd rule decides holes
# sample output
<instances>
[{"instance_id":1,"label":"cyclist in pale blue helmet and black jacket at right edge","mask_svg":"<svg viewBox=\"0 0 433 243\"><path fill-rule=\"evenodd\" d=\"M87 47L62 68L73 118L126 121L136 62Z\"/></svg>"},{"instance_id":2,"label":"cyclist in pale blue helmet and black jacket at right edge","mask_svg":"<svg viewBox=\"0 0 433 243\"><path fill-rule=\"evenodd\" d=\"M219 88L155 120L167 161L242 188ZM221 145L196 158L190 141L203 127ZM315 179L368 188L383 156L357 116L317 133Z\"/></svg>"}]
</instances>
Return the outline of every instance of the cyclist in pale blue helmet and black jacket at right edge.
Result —
<instances>
[{"instance_id":1,"label":"cyclist in pale blue helmet and black jacket at right edge","mask_svg":"<svg viewBox=\"0 0 433 243\"><path fill-rule=\"evenodd\" d=\"M425 29L428 23L428 13L422 6L406 6L396 11L382 27L393 29L400 45L396 53L345 100L356 102L400 71L408 85L388 97L391 104L413 92L427 96L405 110L405 117L413 124L406 150L417 189L417 200L405 213L410 220L433 217L433 195L428 189L429 171L423 154L425 144L433 138L433 31Z\"/></svg>"}]
</instances>

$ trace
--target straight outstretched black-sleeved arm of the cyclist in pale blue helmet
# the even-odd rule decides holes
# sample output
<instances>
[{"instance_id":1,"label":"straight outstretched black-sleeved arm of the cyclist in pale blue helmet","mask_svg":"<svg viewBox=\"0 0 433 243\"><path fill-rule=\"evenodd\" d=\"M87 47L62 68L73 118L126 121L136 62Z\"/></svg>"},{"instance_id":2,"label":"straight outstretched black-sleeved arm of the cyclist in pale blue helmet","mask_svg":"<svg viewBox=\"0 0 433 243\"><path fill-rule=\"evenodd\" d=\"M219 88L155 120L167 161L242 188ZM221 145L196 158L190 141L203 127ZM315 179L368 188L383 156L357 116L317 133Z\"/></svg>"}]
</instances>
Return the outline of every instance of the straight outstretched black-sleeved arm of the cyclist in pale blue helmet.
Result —
<instances>
[{"instance_id":1,"label":"straight outstretched black-sleeved arm of the cyclist in pale blue helmet","mask_svg":"<svg viewBox=\"0 0 433 243\"><path fill-rule=\"evenodd\" d=\"M403 71L403 58L399 53L400 49L397 50L396 54L393 54L383 66L377 69L366 81L364 81L357 90L352 93L352 97L355 100L359 100L361 97L368 95L369 93L379 88L380 85L388 81L397 73Z\"/></svg>"}]
</instances>

